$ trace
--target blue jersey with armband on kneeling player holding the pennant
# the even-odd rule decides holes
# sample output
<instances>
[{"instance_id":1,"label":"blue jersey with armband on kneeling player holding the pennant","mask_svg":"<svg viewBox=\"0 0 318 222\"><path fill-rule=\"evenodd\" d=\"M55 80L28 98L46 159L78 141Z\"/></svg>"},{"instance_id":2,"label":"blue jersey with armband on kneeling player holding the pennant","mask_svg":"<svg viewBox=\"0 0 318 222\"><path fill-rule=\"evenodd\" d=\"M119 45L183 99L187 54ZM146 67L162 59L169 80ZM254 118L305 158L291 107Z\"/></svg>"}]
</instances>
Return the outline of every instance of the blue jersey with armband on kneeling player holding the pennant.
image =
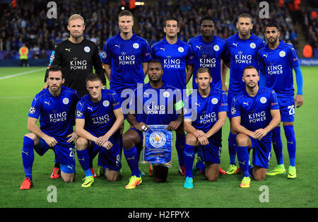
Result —
<instances>
[{"instance_id":1,"label":"blue jersey with armband on kneeling player holding the pennant","mask_svg":"<svg viewBox=\"0 0 318 222\"><path fill-rule=\"evenodd\" d=\"M182 107L181 90L166 83L161 88L152 88L150 83L136 88L129 103L136 120L150 125L170 124Z\"/></svg>"}]
</instances>

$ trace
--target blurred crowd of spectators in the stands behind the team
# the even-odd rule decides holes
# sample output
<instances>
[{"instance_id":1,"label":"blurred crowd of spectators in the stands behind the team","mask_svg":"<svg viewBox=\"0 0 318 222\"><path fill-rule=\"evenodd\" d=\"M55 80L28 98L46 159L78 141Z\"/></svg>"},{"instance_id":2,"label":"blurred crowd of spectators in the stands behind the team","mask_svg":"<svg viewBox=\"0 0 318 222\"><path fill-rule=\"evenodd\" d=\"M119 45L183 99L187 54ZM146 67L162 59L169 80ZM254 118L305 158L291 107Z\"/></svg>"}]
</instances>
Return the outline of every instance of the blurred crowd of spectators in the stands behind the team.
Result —
<instances>
[{"instance_id":1,"label":"blurred crowd of spectators in the stands behind the team","mask_svg":"<svg viewBox=\"0 0 318 222\"><path fill-rule=\"evenodd\" d=\"M33 57L40 57L45 50L54 49L54 45L69 37L67 19L73 13L80 13L86 20L85 37L95 42L102 49L105 40L119 31L117 15L120 1L55 1L58 19L47 18L47 1L16 1L16 6L1 4L0 51L18 52L25 43L33 50ZM292 7L293 6L293 7ZM137 35L148 40L149 45L163 39L163 25L166 16L179 18L181 40L187 42L199 35L199 21L206 14L216 18L216 32L223 38L234 35L235 23L240 13L250 13L254 18L252 32L264 38L264 25L267 19L259 17L259 1L256 0L161 0L146 1L144 6L134 8ZM297 11L295 1L271 1L269 17L281 25L281 39L298 49L298 33L295 23L303 20L303 32L313 48L317 48L317 13Z\"/></svg>"}]
</instances>

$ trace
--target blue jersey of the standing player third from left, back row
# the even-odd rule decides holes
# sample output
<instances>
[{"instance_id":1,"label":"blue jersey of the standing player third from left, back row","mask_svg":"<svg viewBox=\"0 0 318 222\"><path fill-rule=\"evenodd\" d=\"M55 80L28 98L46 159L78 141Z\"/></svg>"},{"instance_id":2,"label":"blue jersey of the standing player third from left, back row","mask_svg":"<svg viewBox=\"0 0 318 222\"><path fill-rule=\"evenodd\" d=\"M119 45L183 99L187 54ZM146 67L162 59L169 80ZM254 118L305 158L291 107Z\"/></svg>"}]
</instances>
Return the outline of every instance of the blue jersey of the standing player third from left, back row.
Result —
<instances>
[{"instance_id":1,"label":"blue jersey of the standing player third from left, back row","mask_svg":"<svg viewBox=\"0 0 318 222\"><path fill-rule=\"evenodd\" d=\"M151 47L151 59L158 59L163 64L163 81L169 86L185 89L186 66L193 64L192 49L187 42L177 40L170 44L164 38Z\"/></svg>"}]
</instances>

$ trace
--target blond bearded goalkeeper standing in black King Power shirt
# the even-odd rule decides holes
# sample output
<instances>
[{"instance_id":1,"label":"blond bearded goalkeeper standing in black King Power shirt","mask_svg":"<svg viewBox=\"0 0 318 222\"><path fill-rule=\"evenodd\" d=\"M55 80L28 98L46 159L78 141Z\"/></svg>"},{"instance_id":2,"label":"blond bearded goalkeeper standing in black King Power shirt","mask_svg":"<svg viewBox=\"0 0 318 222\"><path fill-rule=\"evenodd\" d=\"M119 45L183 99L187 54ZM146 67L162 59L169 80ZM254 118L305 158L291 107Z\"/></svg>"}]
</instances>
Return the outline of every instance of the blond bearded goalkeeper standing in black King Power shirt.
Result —
<instances>
[{"instance_id":1,"label":"blond bearded goalkeeper standing in black King Power shirt","mask_svg":"<svg viewBox=\"0 0 318 222\"><path fill-rule=\"evenodd\" d=\"M73 14L69 17L67 29L70 36L67 40L55 46L49 66L61 66L65 76L64 86L77 90L82 97L88 94L85 80L88 74L93 72L93 69L102 79L102 84L105 88L105 69L102 67L98 46L83 37L85 30L84 18L78 14ZM49 69L49 66L47 69ZM47 74L46 72L45 82L47 81ZM93 171L93 163L90 163L90 167ZM58 178L59 172L59 163L55 163L51 178Z\"/></svg>"}]
</instances>

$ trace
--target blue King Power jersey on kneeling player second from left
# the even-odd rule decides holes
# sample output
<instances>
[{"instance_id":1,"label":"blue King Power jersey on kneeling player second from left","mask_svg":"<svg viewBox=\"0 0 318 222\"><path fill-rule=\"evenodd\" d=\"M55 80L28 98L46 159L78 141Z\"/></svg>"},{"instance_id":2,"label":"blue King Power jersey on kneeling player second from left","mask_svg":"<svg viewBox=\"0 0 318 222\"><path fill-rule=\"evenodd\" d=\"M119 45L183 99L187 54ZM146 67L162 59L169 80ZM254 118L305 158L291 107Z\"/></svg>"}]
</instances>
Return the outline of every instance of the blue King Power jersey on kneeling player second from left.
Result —
<instances>
[{"instance_id":1,"label":"blue King Power jersey on kneeling player second from left","mask_svg":"<svg viewBox=\"0 0 318 222\"><path fill-rule=\"evenodd\" d=\"M77 103L76 118L85 119L84 129L94 136L104 136L116 121L114 110L120 108L119 97L114 90L102 89L102 99L93 103L85 95ZM112 137L119 136L119 130Z\"/></svg>"}]
</instances>

